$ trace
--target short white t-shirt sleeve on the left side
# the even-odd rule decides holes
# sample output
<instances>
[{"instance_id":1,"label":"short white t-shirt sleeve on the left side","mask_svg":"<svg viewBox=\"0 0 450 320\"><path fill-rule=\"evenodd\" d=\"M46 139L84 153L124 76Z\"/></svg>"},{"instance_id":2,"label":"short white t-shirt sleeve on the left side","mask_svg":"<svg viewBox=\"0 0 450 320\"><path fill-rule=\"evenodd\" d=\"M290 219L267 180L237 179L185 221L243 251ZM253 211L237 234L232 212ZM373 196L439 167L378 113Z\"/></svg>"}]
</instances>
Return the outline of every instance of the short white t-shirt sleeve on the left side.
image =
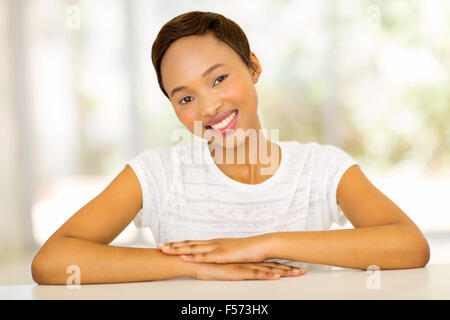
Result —
<instances>
[{"instance_id":1,"label":"short white t-shirt sleeve on the left side","mask_svg":"<svg viewBox=\"0 0 450 320\"><path fill-rule=\"evenodd\" d=\"M148 149L126 162L136 174L142 190L142 209L133 222L138 228L159 228L159 213L167 190L166 168L161 155Z\"/></svg>"}]
</instances>

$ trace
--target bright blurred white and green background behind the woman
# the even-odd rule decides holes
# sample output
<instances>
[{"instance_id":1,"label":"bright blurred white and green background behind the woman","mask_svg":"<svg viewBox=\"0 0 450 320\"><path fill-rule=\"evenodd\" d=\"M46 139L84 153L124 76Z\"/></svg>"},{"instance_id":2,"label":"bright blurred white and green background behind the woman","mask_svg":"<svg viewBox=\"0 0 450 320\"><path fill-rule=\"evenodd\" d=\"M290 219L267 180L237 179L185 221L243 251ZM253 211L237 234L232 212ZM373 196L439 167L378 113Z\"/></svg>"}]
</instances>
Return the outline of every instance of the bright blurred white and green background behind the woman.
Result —
<instances>
[{"instance_id":1,"label":"bright blurred white and green background behind the woman","mask_svg":"<svg viewBox=\"0 0 450 320\"><path fill-rule=\"evenodd\" d=\"M345 150L450 263L449 1L0 0L0 285L33 283L39 247L127 160L178 144L150 54L192 10L246 33L265 128ZM154 245L134 224L112 244Z\"/></svg>"}]
</instances>

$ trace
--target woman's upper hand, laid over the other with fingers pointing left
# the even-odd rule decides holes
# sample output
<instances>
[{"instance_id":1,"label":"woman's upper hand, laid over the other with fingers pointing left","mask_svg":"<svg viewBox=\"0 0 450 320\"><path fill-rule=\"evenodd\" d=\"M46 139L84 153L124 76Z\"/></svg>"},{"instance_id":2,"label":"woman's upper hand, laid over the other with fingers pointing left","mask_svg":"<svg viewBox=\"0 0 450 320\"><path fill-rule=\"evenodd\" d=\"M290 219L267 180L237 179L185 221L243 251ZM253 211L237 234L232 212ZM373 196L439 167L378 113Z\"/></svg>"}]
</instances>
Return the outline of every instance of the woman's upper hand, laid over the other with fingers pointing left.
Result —
<instances>
[{"instance_id":1,"label":"woman's upper hand, laid over the other with fingers pointing left","mask_svg":"<svg viewBox=\"0 0 450 320\"><path fill-rule=\"evenodd\" d=\"M165 254L181 255L186 262L234 263L264 262L265 243L262 237L187 240L159 244Z\"/></svg>"}]
</instances>

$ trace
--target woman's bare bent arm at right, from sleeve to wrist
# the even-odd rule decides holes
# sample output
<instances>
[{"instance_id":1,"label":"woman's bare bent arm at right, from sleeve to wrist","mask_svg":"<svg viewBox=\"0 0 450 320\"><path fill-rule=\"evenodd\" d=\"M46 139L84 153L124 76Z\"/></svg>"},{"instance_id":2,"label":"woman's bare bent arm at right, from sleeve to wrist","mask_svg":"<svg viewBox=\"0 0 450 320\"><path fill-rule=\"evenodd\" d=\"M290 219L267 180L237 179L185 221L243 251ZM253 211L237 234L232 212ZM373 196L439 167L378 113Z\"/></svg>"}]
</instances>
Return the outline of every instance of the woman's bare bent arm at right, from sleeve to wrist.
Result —
<instances>
[{"instance_id":1,"label":"woman's bare bent arm at right, from sleeve to wrist","mask_svg":"<svg viewBox=\"0 0 450 320\"><path fill-rule=\"evenodd\" d=\"M357 269L421 268L428 263L430 248L420 229L359 166L342 176L336 197L355 229L266 234L268 256Z\"/></svg>"}]
</instances>

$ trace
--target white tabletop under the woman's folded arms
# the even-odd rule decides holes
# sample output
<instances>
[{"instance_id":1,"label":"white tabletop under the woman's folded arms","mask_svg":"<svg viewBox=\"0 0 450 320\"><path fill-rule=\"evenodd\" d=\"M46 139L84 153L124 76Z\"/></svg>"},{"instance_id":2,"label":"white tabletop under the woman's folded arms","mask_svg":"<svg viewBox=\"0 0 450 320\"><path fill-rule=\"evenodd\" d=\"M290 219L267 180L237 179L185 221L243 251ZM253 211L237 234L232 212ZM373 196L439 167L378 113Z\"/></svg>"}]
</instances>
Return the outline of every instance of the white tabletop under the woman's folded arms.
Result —
<instances>
[{"instance_id":1,"label":"white tabletop under the woman's folded arms","mask_svg":"<svg viewBox=\"0 0 450 320\"><path fill-rule=\"evenodd\" d=\"M308 300L450 299L450 264L419 269L309 271L280 280L193 278L68 286L0 286L0 299Z\"/></svg>"}]
</instances>

